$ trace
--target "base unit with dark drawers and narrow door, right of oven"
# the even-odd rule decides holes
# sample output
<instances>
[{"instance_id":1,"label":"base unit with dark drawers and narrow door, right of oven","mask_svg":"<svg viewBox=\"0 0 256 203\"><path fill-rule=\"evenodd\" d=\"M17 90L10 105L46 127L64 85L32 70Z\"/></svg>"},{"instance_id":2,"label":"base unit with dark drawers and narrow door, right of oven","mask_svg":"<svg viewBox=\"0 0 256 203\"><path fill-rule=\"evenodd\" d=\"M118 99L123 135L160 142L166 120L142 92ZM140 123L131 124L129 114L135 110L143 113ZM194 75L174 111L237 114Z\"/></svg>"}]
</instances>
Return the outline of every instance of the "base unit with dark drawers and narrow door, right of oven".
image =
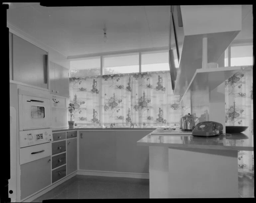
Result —
<instances>
[{"instance_id":1,"label":"base unit with dark drawers and narrow door, right of oven","mask_svg":"<svg viewBox=\"0 0 256 203\"><path fill-rule=\"evenodd\" d=\"M53 133L52 183L77 170L77 131Z\"/></svg>"}]
</instances>

